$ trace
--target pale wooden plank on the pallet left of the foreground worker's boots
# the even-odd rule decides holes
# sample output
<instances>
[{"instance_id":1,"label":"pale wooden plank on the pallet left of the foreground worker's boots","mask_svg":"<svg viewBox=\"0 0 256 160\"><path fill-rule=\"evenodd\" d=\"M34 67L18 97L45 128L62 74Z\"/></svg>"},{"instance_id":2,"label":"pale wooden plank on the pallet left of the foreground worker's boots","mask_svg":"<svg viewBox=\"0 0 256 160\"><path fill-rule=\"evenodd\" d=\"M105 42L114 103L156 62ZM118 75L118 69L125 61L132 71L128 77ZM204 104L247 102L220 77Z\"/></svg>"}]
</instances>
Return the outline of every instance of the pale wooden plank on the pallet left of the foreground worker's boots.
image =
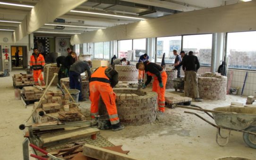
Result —
<instances>
[{"instance_id":1,"label":"pale wooden plank on the pallet left of the foreground worker's boots","mask_svg":"<svg viewBox=\"0 0 256 160\"><path fill-rule=\"evenodd\" d=\"M76 130L70 131L61 131L56 134L47 134L40 136L40 139L43 140L43 144L47 144L54 141L64 140L64 139L75 139L82 136L89 136L96 133L99 133L100 130L98 128L90 127L90 128L80 128Z\"/></svg>"}]
</instances>

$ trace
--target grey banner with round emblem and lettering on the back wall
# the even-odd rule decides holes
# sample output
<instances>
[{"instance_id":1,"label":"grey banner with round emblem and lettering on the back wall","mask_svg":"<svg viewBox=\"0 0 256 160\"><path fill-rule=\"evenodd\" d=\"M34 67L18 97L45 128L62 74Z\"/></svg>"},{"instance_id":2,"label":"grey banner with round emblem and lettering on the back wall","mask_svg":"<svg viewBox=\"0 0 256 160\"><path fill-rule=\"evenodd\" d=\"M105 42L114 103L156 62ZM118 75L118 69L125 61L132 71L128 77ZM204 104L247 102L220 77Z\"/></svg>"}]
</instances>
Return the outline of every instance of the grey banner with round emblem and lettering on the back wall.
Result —
<instances>
[{"instance_id":1,"label":"grey banner with round emblem and lettering on the back wall","mask_svg":"<svg viewBox=\"0 0 256 160\"><path fill-rule=\"evenodd\" d=\"M70 47L69 38L56 38L55 51L61 53L61 56L68 56L67 48Z\"/></svg>"}]
</instances>

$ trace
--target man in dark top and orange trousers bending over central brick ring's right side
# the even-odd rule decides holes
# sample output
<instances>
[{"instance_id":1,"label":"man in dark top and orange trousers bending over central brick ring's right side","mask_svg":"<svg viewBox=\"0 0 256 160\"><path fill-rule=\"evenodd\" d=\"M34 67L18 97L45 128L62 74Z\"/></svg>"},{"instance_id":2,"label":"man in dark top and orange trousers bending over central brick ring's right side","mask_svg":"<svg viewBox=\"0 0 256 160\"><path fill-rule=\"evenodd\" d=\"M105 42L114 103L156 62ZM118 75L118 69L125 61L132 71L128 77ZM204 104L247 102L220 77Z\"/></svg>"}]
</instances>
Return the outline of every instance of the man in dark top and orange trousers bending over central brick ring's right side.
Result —
<instances>
[{"instance_id":1,"label":"man in dark top and orange trousers bending over central brick ring's right side","mask_svg":"<svg viewBox=\"0 0 256 160\"><path fill-rule=\"evenodd\" d=\"M158 111L159 113L163 113L165 106L165 85L167 81L166 72L160 65L149 61L145 61L144 63L138 62L136 64L136 68L141 71L145 71L147 74L147 80L142 88L146 88L146 86L151 82L152 77L154 78L152 91L157 93Z\"/></svg>"}]
</instances>

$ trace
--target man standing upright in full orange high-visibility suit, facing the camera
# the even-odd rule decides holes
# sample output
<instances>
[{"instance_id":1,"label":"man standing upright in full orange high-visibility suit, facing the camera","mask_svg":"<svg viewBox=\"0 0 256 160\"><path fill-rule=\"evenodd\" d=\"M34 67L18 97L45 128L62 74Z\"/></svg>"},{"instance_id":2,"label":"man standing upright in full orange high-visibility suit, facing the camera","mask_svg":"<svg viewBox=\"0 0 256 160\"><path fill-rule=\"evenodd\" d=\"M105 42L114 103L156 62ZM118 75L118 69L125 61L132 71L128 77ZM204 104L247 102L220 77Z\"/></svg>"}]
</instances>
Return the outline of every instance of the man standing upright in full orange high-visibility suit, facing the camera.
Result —
<instances>
[{"instance_id":1,"label":"man standing upright in full orange high-visibility suit, facing the camera","mask_svg":"<svg viewBox=\"0 0 256 160\"><path fill-rule=\"evenodd\" d=\"M30 56L30 70L33 69L33 76L34 76L34 84L39 85L38 78L41 81L42 86L45 86L44 80L43 80L43 67L45 65L45 61L43 58L43 55L38 53L38 49L34 48L34 53L32 56Z\"/></svg>"}]
</instances>

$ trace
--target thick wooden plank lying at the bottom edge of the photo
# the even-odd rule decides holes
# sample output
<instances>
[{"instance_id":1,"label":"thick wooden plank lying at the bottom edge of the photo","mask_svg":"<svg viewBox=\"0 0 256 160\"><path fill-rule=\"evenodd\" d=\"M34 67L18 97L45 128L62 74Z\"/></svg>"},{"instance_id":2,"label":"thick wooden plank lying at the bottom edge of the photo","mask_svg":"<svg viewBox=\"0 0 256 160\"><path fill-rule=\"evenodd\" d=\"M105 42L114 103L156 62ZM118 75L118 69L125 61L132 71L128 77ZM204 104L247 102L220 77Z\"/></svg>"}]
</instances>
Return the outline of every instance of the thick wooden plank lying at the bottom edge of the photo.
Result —
<instances>
[{"instance_id":1,"label":"thick wooden plank lying at the bottom edge of the photo","mask_svg":"<svg viewBox=\"0 0 256 160\"><path fill-rule=\"evenodd\" d=\"M84 145L83 154L98 160L136 160L126 154L114 152L90 144Z\"/></svg>"}]
</instances>

